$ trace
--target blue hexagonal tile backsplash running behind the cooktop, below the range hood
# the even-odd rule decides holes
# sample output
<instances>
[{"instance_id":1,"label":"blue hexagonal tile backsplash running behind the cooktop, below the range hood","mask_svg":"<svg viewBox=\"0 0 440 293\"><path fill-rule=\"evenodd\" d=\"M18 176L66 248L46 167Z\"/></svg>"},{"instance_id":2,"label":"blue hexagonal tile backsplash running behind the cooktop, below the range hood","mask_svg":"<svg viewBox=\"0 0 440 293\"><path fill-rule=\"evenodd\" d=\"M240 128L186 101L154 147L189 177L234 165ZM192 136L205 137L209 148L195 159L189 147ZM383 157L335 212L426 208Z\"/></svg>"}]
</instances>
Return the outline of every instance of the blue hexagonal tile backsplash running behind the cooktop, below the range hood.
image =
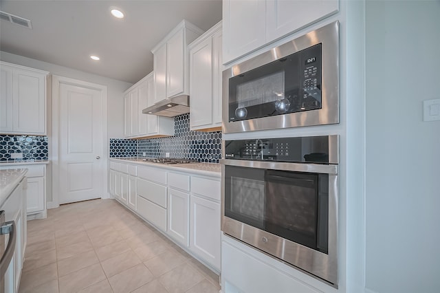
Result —
<instances>
[{"instance_id":1,"label":"blue hexagonal tile backsplash running behind the cooktop, below the range hood","mask_svg":"<svg viewBox=\"0 0 440 293\"><path fill-rule=\"evenodd\" d=\"M168 138L142 140L110 139L110 158L184 158L199 162L218 163L221 158L221 131L190 131L190 116L175 117L175 135Z\"/></svg>"}]
</instances>

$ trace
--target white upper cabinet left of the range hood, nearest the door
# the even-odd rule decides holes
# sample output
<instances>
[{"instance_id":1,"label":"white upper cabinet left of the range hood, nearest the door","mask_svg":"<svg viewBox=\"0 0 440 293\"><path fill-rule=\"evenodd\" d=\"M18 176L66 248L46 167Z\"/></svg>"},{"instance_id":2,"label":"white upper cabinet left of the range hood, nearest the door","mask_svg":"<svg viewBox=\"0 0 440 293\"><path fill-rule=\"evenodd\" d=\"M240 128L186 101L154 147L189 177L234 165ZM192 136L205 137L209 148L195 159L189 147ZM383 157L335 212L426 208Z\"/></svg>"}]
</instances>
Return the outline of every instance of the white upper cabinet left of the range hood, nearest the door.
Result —
<instances>
[{"instance_id":1,"label":"white upper cabinet left of the range hood, nearest the door","mask_svg":"<svg viewBox=\"0 0 440 293\"><path fill-rule=\"evenodd\" d=\"M174 118L142 113L154 103L153 72L130 87L124 94L126 138L174 135Z\"/></svg>"}]
</instances>

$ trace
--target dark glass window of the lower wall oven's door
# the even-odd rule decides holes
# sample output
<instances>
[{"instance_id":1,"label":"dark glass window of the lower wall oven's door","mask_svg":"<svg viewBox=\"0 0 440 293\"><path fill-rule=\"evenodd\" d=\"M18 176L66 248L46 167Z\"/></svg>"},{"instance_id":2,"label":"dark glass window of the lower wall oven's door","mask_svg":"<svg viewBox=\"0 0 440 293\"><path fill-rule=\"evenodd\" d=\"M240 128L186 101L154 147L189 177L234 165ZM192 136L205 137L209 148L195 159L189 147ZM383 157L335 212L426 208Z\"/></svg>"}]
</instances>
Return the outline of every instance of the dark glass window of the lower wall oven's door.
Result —
<instances>
[{"instance_id":1,"label":"dark glass window of the lower wall oven's door","mask_svg":"<svg viewBox=\"0 0 440 293\"><path fill-rule=\"evenodd\" d=\"M225 166L225 217L328 252L329 175Z\"/></svg>"}]
</instances>

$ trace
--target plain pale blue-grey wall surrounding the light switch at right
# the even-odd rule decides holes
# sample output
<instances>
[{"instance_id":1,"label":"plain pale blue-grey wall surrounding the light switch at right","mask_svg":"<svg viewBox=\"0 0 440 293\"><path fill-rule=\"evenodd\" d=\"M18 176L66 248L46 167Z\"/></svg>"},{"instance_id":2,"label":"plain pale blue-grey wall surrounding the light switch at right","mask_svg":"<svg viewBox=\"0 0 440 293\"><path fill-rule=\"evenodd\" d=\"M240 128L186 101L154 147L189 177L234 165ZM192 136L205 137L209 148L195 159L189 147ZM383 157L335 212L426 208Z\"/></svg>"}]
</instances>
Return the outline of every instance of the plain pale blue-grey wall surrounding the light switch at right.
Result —
<instances>
[{"instance_id":1,"label":"plain pale blue-grey wall surrounding the light switch at right","mask_svg":"<svg viewBox=\"0 0 440 293\"><path fill-rule=\"evenodd\" d=\"M440 1L366 1L367 292L440 290Z\"/></svg>"}]
</instances>

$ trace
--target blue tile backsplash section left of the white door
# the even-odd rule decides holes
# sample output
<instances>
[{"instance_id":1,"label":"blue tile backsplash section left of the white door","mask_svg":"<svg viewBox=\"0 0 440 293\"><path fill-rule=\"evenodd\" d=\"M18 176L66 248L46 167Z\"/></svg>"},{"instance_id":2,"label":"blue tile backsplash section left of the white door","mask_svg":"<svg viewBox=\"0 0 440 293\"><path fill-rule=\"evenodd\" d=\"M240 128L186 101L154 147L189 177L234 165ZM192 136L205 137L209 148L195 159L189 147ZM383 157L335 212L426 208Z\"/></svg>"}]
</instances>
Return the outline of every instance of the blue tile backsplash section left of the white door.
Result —
<instances>
[{"instance_id":1,"label":"blue tile backsplash section left of the white door","mask_svg":"<svg viewBox=\"0 0 440 293\"><path fill-rule=\"evenodd\" d=\"M23 153L22 159L11 159L11 153ZM0 135L0 161L23 162L48 160L47 136Z\"/></svg>"}]
</instances>

